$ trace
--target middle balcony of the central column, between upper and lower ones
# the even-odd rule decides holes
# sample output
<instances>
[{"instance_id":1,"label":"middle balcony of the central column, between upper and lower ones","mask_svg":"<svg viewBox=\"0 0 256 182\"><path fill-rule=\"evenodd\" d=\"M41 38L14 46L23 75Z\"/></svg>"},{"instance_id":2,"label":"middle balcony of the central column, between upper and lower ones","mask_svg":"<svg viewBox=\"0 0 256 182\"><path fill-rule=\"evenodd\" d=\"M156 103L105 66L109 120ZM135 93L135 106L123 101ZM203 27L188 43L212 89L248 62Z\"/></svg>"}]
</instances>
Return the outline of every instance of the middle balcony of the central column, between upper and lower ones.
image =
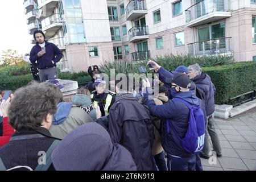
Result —
<instances>
[{"instance_id":1,"label":"middle balcony of the central column, between upper and lower ones","mask_svg":"<svg viewBox=\"0 0 256 182\"><path fill-rule=\"evenodd\" d=\"M129 42L138 42L140 40L148 39L148 26L133 27L128 31Z\"/></svg>"}]
</instances>

